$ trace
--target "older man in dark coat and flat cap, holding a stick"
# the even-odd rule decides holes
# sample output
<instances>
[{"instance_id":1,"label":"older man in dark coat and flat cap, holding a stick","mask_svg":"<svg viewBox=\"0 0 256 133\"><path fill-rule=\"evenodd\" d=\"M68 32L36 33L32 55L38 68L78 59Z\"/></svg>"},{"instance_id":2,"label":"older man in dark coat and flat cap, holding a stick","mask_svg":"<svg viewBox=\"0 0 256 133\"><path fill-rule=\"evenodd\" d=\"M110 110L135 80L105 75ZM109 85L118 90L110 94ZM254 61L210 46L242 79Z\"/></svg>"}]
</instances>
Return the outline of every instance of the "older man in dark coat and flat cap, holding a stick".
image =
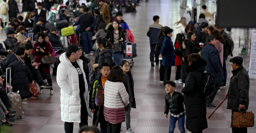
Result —
<instances>
[{"instance_id":1,"label":"older man in dark coat and flat cap, holding a stick","mask_svg":"<svg viewBox=\"0 0 256 133\"><path fill-rule=\"evenodd\" d=\"M238 108L240 108L241 111L243 111L244 108L248 110L250 78L243 66L242 57L233 57L229 62L231 62L233 76L230 79L226 98L228 98L227 109L232 110L233 114L234 112L238 112ZM232 127L232 133L247 133L247 127Z\"/></svg>"}]
</instances>

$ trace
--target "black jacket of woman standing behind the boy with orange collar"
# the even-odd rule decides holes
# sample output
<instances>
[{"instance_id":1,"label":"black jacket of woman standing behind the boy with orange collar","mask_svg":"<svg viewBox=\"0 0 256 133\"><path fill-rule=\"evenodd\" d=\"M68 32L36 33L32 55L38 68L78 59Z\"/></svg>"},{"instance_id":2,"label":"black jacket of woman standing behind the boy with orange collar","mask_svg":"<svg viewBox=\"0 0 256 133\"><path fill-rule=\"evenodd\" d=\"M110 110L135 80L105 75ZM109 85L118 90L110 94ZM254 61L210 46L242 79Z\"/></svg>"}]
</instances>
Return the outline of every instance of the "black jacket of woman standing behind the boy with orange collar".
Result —
<instances>
[{"instance_id":1,"label":"black jacket of woman standing behind the boy with orange collar","mask_svg":"<svg viewBox=\"0 0 256 133\"><path fill-rule=\"evenodd\" d=\"M96 49L95 53L95 63L99 64L99 66L95 70L96 75L100 75L100 67L102 63L108 63L110 65L110 69L112 68L111 64L113 63L111 62L113 61L113 49L110 49L109 47L102 49L102 51L100 51L100 49Z\"/></svg>"}]
</instances>

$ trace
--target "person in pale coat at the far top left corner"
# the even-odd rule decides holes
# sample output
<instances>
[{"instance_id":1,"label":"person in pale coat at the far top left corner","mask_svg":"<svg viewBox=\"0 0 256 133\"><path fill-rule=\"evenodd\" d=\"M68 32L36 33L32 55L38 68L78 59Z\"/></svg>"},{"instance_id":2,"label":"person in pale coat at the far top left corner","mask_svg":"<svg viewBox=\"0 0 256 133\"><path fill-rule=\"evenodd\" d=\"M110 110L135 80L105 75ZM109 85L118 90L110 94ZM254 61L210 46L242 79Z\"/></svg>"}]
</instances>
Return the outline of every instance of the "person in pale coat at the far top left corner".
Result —
<instances>
[{"instance_id":1,"label":"person in pale coat at the far top left corner","mask_svg":"<svg viewBox=\"0 0 256 133\"><path fill-rule=\"evenodd\" d=\"M6 25L6 23L9 23L9 4L6 2L6 0L4 0L4 2L2 2L0 4L0 18L1 18L1 23L4 23L4 26Z\"/></svg>"}]
</instances>

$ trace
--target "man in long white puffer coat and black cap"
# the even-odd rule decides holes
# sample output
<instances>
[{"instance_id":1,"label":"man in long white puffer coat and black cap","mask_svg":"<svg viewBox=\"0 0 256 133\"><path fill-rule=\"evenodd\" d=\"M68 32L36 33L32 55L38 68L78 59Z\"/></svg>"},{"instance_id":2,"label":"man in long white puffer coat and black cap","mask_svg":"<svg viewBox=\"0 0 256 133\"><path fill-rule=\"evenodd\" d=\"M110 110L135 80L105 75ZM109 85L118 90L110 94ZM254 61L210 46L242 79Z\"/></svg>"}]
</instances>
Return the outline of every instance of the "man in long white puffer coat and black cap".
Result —
<instances>
[{"instance_id":1,"label":"man in long white puffer coat and black cap","mask_svg":"<svg viewBox=\"0 0 256 133\"><path fill-rule=\"evenodd\" d=\"M73 133L74 122L79 127L88 125L88 116L92 118L89 108L89 93L83 61L79 59L82 47L72 44L67 52L60 56L57 69L57 83L60 86L61 120L64 121L66 133Z\"/></svg>"}]
</instances>

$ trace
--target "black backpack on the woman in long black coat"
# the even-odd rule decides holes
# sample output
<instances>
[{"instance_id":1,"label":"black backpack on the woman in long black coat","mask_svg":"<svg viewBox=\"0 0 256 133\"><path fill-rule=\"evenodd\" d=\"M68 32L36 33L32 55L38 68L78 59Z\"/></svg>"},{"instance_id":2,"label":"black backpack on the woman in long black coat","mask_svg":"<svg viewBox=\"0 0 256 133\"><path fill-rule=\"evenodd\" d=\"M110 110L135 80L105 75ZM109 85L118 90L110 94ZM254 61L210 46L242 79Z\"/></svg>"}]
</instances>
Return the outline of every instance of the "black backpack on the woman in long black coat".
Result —
<instances>
[{"instance_id":1,"label":"black backpack on the woman in long black coat","mask_svg":"<svg viewBox=\"0 0 256 133\"><path fill-rule=\"evenodd\" d=\"M204 86L203 86L204 95L209 96L210 94L212 94L215 88L214 76L210 72L204 71L203 73L204 73Z\"/></svg>"}]
</instances>

